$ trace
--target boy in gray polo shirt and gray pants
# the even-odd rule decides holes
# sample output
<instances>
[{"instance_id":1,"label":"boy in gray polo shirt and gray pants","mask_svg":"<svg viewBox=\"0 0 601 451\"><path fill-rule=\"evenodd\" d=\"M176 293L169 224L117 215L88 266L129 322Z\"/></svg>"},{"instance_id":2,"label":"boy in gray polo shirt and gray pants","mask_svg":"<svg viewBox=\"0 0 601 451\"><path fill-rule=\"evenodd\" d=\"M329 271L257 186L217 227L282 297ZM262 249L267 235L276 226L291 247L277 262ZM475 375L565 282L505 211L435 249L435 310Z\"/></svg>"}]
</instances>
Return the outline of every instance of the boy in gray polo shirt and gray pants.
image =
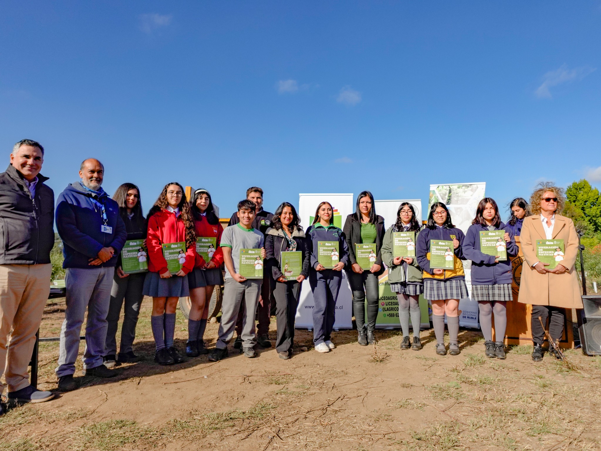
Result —
<instances>
[{"instance_id":1,"label":"boy in gray polo shirt and gray pants","mask_svg":"<svg viewBox=\"0 0 601 451\"><path fill-rule=\"evenodd\" d=\"M265 258L263 233L252 228L255 219L255 204L246 199L238 203L240 222L226 227L221 235L221 248L224 251L225 281L224 298L221 304L219 339L209 360L218 361L228 356L227 344L234 336L240 303L244 299L245 315L242 320L242 352L246 357L255 357L257 343L255 333L255 311L261 294L263 279L247 279L239 274L240 250L261 249L261 259Z\"/></svg>"}]
</instances>

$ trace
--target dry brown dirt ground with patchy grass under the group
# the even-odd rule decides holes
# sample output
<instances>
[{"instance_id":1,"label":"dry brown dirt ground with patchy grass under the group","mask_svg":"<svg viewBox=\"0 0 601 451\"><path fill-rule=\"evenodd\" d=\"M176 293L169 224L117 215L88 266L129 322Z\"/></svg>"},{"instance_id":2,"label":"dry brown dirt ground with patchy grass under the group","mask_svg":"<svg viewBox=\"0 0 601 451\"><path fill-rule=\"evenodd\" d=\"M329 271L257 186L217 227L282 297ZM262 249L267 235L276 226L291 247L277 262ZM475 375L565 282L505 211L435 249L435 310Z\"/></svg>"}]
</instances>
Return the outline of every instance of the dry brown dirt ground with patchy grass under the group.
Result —
<instances>
[{"instance_id":1,"label":"dry brown dirt ground with patchy grass under the group","mask_svg":"<svg viewBox=\"0 0 601 451\"><path fill-rule=\"evenodd\" d=\"M161 367L150 307L146 298L134 345L144 361L106 380L81 376L78 361L79 390L0 417L0 450L601 449L601 358L580 351L567 351L576 368L549 355L533 363L529 346L488 359L480 334L462 330L462 354L440 357L426 330L422 351L400 351L398 331L377 331L377 346L365 347L340 331L337 348L318 354L297 330L290 360L230 346L217 363ZM40 336L58 336L63 318L64 299L49 300ZM178 310L180 349L186 324ZM211 347L217 328L207 327ZM38 387L56 389L57 358L58 343L41 344Z\"/></svg>"}]
</instances>

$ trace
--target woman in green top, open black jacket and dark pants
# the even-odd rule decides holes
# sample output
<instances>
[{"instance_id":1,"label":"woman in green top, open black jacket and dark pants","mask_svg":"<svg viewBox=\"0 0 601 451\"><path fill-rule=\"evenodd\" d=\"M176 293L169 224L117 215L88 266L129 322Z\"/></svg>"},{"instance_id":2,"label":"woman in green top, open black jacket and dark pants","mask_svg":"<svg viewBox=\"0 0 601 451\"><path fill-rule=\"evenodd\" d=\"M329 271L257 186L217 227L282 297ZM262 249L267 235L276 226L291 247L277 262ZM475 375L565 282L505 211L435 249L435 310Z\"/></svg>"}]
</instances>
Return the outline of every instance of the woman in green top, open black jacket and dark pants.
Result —
<instances>
[{"instance_id":1,"label":"woman in green top, open black jacket and dark pants","mask_svg":"<svg viewBox=\"0 0 601 451\"><path fill-rule=\"evenodd\" d=\"M376 215L374 197L369 191L363 191L357 197L356 211L347 216L344 223L344 235L349 245L349 265L346 269L350 289L353 292L353 314L359 333L357 342L361 346L376 343L374 330L378 311L379 281L383 272L380 248L384 238L384 218ZM357 263L356 244L375 244L376 261L371 268L361 268ZM365 297L367 296L367 324L365 324Z\"/></svg>"}]
</instances>

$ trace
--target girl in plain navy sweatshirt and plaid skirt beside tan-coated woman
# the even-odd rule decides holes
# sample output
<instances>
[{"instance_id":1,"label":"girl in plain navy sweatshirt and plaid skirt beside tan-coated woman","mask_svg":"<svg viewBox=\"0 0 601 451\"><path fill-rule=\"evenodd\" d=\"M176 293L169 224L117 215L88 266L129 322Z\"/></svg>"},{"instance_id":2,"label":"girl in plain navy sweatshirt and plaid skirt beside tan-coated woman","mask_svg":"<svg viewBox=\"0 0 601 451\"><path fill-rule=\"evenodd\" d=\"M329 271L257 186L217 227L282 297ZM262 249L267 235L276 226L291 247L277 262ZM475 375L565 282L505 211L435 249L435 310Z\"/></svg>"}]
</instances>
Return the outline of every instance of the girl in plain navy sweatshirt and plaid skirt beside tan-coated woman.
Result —
<instances>
[{"instance_id":1,"label":"girl in plain navy sweatshirt and plaid skirt beside tan-coated woman","mask_svg":"<svg viewBox=\"0 0 601 451\"><path fill-rule=\"evenodd\" d=\"M498 238L502 235L502 238ZM504 246L499 246L502 239ZM511 294L511 260L518 248L513 232L503 222L495 200L483 198L476 217L463 241L463 256L472 260L472 299L478 301L480 327L484 335L484 355L505 358L505 304L513 301ZM492 315L495 314L495 342L492 341Z\"/></svg>"}]
</instances>

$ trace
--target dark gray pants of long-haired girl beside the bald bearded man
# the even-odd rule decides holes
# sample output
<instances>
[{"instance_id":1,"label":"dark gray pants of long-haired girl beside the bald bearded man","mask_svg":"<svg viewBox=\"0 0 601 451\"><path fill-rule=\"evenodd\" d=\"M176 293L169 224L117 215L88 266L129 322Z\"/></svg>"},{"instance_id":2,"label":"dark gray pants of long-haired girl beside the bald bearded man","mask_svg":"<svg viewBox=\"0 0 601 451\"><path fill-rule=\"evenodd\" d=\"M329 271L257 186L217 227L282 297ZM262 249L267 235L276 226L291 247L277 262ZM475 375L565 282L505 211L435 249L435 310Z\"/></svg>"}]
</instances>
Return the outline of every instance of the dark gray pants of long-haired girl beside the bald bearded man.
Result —
<instances>
[{"instance_id":1,"label":"dark gray pants of long-haired girl beside the bald bearded man","mask_svg":"<svg viewBox=\"0 0 601 451\"><path fill-rule=\"evenodd\" d=\"M130 274L127 277L120 278L115 271L111 289L111 304L109 313L106 315L108 328L106 329L105 355L117 354L117 324L121 314L121 305L125 300L123 326L121 326L121 344L119 354L126 354L133 351L133 340L136 337L136 324L138 324L138 314L144 295L145 272L139 274Z\"/></svg>"}]
</instances>

